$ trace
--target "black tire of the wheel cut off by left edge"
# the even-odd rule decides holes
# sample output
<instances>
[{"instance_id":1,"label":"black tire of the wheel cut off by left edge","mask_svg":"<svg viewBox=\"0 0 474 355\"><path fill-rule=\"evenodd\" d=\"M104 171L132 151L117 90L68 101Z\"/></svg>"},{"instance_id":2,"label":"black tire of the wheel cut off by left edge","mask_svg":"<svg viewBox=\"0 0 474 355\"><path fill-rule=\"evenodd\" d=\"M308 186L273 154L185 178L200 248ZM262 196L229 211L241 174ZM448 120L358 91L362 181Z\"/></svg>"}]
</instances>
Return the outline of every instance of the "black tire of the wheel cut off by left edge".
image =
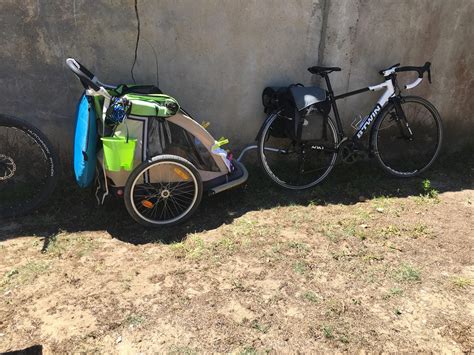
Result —
<instances>
[{"instance_id":1,"label":"black tire of the wheel cut off by left edge","mask_svg":"<svg viewBox=\"0 0 474 355\"><path fill-rule=\"evenodd\" d=\"M44 162L47 164L47 167L45 167L47 172L45 176L46 181L41 192L33 200L28 201L27 205L23 203L17 207L12 207L0 204L0 219L2 219L19 217L30 213L38 209L52 195L59 179L59 159L48 138L29 122L10 115L0 114L0 127L13 128L25 133L39 147L44 155ZM2 153L4 152L0 151L0 154ZM2 181L0 181L1 183Z\"/></svg>"}]
</instances>

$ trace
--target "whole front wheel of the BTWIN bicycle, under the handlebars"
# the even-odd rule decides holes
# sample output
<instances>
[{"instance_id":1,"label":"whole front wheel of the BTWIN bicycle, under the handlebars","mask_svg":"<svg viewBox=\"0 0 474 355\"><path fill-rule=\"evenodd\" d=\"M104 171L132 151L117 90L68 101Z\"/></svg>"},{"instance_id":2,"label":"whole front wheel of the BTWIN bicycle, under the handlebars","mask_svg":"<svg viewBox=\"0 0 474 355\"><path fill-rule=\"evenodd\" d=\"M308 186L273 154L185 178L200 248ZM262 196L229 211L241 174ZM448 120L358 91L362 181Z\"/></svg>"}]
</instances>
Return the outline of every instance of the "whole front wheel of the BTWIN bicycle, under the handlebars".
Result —
<instances>
[{"instance_id":1,"label":"whole front wheel of the BTWIN bicycle, under the handlebars","mask_svg":"<svg viewBox=\"0 0 474 355\"><path fill-rule=\"evenodd\" d=\"M392 103L374 124L372 148L381 167L398 177L416 176L436 160L443 126L436 108L427 100L407 96Z\"/></svg>"}]
</instances>

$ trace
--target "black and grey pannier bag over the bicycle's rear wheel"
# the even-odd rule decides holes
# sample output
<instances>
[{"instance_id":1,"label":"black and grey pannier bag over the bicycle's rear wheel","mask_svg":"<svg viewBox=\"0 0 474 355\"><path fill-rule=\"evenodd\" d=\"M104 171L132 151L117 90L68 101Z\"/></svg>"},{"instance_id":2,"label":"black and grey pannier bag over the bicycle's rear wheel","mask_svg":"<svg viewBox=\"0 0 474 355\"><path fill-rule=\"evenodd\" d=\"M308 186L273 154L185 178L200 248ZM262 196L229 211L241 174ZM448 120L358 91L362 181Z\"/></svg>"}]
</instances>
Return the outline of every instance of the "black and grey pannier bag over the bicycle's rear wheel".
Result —
<instances>
[{"instance_id":1,"label":"black and grey pannier bag over the bicycle's rear wheel","mask_svg":"<svg viewBox=\"0 0 474 355\"><path fill-rule=\"evenodd\" d=\"M322 140L327 136L331 104L326 90L293 84L289 87L267 87L262 93L265 113L280 110L271 135L294 140Z\"/></svg>"}]
</instances>

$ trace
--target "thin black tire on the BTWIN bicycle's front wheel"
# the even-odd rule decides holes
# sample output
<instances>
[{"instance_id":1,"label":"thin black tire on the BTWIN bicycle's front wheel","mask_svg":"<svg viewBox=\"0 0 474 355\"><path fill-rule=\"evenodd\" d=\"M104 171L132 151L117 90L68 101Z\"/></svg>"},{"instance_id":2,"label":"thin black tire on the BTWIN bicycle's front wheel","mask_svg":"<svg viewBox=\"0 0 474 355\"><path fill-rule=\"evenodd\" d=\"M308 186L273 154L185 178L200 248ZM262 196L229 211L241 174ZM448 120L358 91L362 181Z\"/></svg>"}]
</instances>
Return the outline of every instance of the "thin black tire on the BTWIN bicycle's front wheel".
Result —
<instances>
[{"instance_id":1,"label":"thin black tire on the BTWIN bicycle's front wheel","mask_svg":"<svg viewBox=\"0 0 474 355\"><path fill-rule=\"evenodd\" d=\"M378 116L377 120L374 123L373 134L372 134L372 138L371 138L371 146L373 148L373 153L374 153L375 157L377 158L377 161L378 161L379 165L382 167L382 169L385 172L387 172L391 175L394 175L396 177L403 177L403 178L417 176L417 175L423 173L424 171L426 171L435 162L435 160L438 157L439 152L441 150L441 146L442 146L442 142L443 142L443 135L444 135L443 123L442 123L442 120L441 120L441 116L439 115L438 111L433 106L433 104L431 104L428 100L426 100L422 97L405 96L405 97L401 98L402 108L403 108L404 105L406 107L406 104L415 104L415 105L421 105L422 107L424 107L431 114L431 117L434 120L433 122L436 125L436 132L437 132L436 145L433 149L433 153L430 154L431 156L429 157L429 159L426 159L427 163L423 163L422 164L423 166L415 168L415 169L410 168L410 171L400 171L399 168L395 168L395 163L394 162L390 163L389 158L387 156L384 157L384 154L381 153L382 147L381 147L380 142L379 142L380 136L381 136L380 132L382 130L381 126L384 123L384 120L388 117L389 113L393 112L393 110L395 109L393 103L390 103L389 105L387 105L383 109L383 111L380 113L380 115ZM421 107L420 107L420 109L421 109ZM405 111L405 109L404 109L404 111ZM409 122L410 120L408 118L407 118L407 121L408 121L408 124L410 124L410 122ZM420 129L420 130L418 130L418 132L422 132L422 130ZM417 137L416 134L417 134L417 132L414 133L414 137ZM419 134L418 134L418 136L419 136ZM412 138L412 140L413 140L413 138ZM421 139L418 140L418 142L421 142ZM400 152L400 150L397 150L397 149L391 149L391 150L392 151L396 150L396 151ZM413 157L416 157L417 155L421 157L422 156L421 154L422 153L418 149L418 151L416 151L413 154ZM406 154L405 157L395 158L393 160L394 161L399 161L399 162L405 161L405 163L412 163L413 162L413 157L410 159L410 157L408 157L408 154Z\"/></svg>"}]
</instances>

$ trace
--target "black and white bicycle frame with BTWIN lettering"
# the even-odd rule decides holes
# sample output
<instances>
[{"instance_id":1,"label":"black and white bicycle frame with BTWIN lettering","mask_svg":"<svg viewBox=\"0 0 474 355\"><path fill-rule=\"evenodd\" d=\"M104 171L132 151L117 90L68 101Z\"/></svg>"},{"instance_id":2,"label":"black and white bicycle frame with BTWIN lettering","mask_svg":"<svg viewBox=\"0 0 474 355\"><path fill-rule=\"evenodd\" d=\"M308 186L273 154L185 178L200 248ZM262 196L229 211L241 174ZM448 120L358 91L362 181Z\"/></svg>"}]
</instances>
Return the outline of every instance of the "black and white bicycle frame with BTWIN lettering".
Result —
<instances>
[{"instance_id":1,"label":"black and white bicycle frame with BTWIN lettering","mask_svg":"<svg viewBox=\"0 0 474 355\"><path fill-rule=\"evenodd\" d=\"M324 75L324 79L326 80L326 85L327 85L327 88L328 88L328 98L329 98L329 101L331 103L331 107L334 111L334 118L336 120L337 131L338 131L339 139L341 141L344 140L344 138L347 138L347 137L344 133L344 129L342 127L342 122L341 122L341 117L339 116L339 111L337 109L337 104L336 104L337 100L340 100L340 99L343 99L343 98L346 98L346 97L349 97L349 96L361 94L361 93L367 92L367 91L379 91L379 90L385 89L385 92L379 98L379 100L377 101L377 104L372 109L372 111L367 116L365 116L364 119L359 123L359 127L357 128L356 132L352 136L352 140L357 141L357 140L360 140L362 138L364 133L370 127L372 122L377 118L379 113L382 111L382 108L387 104L387 102L390 100L390 98L395 96L395 86L393 84L393 80L392 80L391 77L388 78L387 80L385 80L385 82L383 82L379 85L369 86L369 87L366 87L366 88L363 88L363 89L350 91L350 92L347 92L345 94L341 94L341 95L337 95L337 96L334 96L334 92L332 90L331 82L330 82L329 77L328 77L327 74Z\"/></svg>"}]
</instances>

